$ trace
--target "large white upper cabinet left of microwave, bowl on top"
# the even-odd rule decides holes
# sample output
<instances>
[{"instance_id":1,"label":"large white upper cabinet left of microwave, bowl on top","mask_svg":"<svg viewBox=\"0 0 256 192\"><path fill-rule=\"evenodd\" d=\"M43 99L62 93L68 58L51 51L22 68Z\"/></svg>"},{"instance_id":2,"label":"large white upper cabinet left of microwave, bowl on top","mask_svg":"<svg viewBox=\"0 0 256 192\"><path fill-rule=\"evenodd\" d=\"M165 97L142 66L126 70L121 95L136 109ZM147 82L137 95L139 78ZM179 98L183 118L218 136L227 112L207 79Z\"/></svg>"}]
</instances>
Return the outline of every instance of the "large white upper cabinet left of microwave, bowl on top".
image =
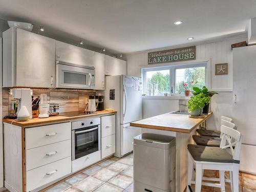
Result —
<instances>
[{"instance_id":1,"label":"large white upper cabinet left of microwave, bowl on top","mask_svg":"<svg viewBox=\"0 0 256 192\"><path fill-rule=\"evenodd\" d=\"M55 40L17 28L3 32L3 87L54 88Z\"/></svg>"}]
</instances>

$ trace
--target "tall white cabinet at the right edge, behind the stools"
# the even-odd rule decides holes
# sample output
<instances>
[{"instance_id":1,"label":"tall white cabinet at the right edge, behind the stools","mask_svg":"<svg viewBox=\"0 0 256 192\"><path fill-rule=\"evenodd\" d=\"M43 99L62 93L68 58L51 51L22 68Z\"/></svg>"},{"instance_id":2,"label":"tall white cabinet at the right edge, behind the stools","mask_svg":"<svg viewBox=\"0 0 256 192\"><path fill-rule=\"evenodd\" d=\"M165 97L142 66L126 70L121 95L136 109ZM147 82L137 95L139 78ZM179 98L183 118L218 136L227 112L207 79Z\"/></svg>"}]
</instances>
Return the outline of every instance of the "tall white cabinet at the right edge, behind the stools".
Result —
<instances>
[{"instance_id":1,"label":"tall white cabinet at the right edge, behind the stools","mask_svg":"<svg viewBox=\"0 0 256 192\"><path fill-rule=\"evenodd\" d=\"M240 170L256 174L256 46L233 49L233 119L243 135Z\"/></svg>"}]
</instances>

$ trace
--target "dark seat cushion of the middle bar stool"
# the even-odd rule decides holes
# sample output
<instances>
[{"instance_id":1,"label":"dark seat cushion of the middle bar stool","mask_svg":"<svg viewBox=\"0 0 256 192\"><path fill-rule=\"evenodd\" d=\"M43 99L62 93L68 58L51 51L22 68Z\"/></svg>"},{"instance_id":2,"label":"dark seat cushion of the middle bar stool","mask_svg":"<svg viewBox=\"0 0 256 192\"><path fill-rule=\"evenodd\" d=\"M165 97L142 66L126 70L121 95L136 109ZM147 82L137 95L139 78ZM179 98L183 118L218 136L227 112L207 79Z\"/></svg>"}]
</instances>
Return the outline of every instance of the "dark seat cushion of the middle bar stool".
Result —
<instances>
[{"instance_id":1,"label":"dark seat cushion of the middle bar stool","mask_svg":"<svg viewBox=\"0 0 256 192\"><path fill-rule=\"evenodd\" d=\"M192 137L197 145L220 147L221 144L221 138L219 137L208 137L201 135L193 135Z\"/></svg>"}]
</instances>

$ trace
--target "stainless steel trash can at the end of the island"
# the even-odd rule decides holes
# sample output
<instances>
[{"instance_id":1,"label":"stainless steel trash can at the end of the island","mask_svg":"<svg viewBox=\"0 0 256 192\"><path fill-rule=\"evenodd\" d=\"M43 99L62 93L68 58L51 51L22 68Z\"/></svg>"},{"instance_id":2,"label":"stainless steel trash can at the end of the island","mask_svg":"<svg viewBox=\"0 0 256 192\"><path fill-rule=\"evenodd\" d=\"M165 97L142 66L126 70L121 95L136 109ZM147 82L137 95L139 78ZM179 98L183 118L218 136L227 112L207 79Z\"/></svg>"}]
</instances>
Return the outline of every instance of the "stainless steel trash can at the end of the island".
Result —
<instances>
[{"instance_id":1,"label":"stainless steel trash can at the end of the island","mask_svg":"<svg viewBox=\"0 0 256 192\"><path fill-rule=\"evenodd\" d=\"M175 191L175 137L143 133L134 137L134 192Z\"/></svg>"}]
</instances>

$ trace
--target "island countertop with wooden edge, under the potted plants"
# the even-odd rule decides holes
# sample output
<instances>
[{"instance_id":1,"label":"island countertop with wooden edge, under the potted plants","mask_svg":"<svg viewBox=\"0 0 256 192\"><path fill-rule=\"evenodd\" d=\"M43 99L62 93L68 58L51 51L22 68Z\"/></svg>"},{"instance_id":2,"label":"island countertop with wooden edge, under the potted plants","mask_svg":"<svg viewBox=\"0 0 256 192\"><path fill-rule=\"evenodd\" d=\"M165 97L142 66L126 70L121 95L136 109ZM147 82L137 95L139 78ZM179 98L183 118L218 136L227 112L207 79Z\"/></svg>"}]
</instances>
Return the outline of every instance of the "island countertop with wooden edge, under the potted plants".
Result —
<instances>
[{"instance_id":1,"label":"island countertop with wooden edge, under the potted plants","mask_svg":"<svg viewBox=\"0 0 256 192\"><path fill-rule=\"evenodd\" d=\"M189 115L165 113L162 115L134 121L130 123L130 125L147 129L190 133L211 115L212 112L208 115L205 115L204 118L189 118Z\"/></svg>"}]
</instances>

